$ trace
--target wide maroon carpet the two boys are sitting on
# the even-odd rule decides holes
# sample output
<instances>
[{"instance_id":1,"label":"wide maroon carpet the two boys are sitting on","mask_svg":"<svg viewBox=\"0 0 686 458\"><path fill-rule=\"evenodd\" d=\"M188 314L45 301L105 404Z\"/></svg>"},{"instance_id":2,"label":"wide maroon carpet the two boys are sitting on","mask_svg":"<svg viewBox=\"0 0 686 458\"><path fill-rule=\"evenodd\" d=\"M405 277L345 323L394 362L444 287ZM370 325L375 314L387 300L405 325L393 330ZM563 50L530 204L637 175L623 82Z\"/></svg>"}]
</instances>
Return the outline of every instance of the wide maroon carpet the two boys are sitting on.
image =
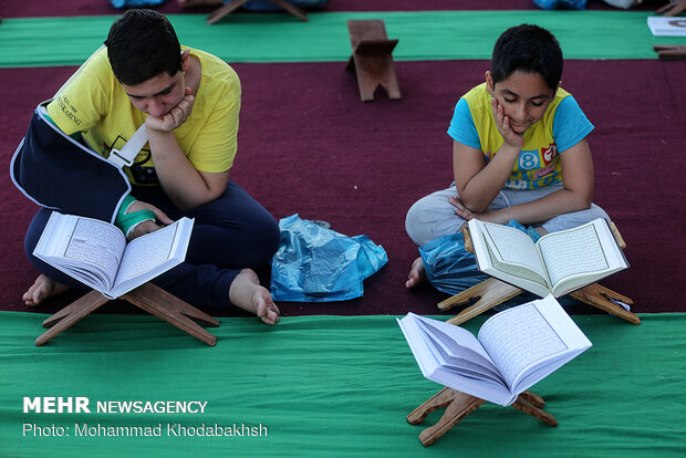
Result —
<instances>
[{"instance_id":1,"label":"wide maroon carpet the two boys are sitting on","mask_svg":"<svg viewBox=\"0 0 686 458\"><path fill-rule=\"evenodd\" d=\"M373 103L358 101L355 77L343 63L235 65L242 81L243 107L233 179L277 218L298 212L330 221L340 232L367 235L384 246L389 258L366 281L362 299L280 303L285 315L438 313L435 304L446 294L428 285L416 291L403 287L417 256L405 235L404 218L417 198L449 184L450 139L445 132L451 110L459 95L480 81L487 65L485 61L399 63L403 100L391 102L378 94ZM17 89L0 113L6 164L32 108L73 70L0 70L3 87ZM563 86L596 126L589 138L596 166L595 201L627 243L631 269L602 283L633 298L637 312L686 311L684 75L685 61L570 61L563 74ZM34 208L7 174L0 189L4 221L0 309L23 311L21 293L35 272L23 254L22 240ZM40 311L52 312L67 299Z\"/></svg>"}]
</instances>

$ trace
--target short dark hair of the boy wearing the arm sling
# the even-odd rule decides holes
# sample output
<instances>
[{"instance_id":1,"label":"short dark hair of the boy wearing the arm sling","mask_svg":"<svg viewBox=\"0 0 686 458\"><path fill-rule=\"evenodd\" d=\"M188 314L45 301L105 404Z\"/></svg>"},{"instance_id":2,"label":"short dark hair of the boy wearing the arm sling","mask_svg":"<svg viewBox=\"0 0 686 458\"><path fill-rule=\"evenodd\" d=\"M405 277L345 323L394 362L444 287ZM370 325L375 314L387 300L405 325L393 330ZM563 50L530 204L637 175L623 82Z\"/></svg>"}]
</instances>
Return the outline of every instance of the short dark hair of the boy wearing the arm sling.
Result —
<instances>
[{"instance_id":1,"label":"short dark hair of the boy wearing the arm sling","mask_svg":"<svg viewBox=\"0 0 686 458\"><path fill-rule=\"evenodd\" d=\"M107 56L116 79L126 85L141 84L181 70L181 46L172 23L153 10L126 11L110 28Z\"/></svg>"}]
</instances>

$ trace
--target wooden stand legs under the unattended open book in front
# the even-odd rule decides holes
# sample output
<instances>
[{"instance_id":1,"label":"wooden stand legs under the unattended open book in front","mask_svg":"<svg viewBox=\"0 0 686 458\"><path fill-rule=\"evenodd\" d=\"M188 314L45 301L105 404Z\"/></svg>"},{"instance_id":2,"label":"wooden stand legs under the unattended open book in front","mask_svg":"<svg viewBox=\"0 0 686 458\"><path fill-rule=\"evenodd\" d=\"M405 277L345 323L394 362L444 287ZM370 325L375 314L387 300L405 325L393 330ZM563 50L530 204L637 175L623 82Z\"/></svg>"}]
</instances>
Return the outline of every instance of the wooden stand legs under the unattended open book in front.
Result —
<instances>
[{"instance_id":1,"label":"wooden stand legs under the unattended open book in front","mask_svg":"<svg viewBox=\"0 0 686 458\"><path fill-rule=\"evenodd\" d=\"M419 440L425 447L428 447L438 440L440 436L450 430L450 428L465 419L469 414L479 408L484 403L486 403L486 400L476 396L445 387L426 403L414 409L407 416L407 421L412 425L418 425L430 412L444 407L446 408L446 412L436 425L424 429L419 434ZM529 414L550 426L558 426L555 417L543 410L545 402L543 398L531 392L523 392L512 404L512 407L524 414Z\"/></svg>"}]
</instances>

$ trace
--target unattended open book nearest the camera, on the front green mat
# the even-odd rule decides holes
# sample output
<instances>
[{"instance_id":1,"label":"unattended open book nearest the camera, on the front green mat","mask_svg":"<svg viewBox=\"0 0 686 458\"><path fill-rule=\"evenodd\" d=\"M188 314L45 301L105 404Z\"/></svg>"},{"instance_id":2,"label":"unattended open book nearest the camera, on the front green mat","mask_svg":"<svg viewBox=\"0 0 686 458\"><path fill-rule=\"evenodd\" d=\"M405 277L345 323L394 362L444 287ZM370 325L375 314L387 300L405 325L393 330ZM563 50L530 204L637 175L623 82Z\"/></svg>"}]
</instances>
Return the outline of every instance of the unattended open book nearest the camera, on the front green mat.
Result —
<instances>
[{"instance_id":1,"label":"unattended open book nearest the camera, on the front green mat","mask_svg":"<svg viewBox=\"0 0 686 458\"><path fill-rule=\"evenodd\" d=\"M414 313L398 324L426 378L502 406L591 346L552 295L489 318L478 339Z\"/></svg>"}]
</instances>

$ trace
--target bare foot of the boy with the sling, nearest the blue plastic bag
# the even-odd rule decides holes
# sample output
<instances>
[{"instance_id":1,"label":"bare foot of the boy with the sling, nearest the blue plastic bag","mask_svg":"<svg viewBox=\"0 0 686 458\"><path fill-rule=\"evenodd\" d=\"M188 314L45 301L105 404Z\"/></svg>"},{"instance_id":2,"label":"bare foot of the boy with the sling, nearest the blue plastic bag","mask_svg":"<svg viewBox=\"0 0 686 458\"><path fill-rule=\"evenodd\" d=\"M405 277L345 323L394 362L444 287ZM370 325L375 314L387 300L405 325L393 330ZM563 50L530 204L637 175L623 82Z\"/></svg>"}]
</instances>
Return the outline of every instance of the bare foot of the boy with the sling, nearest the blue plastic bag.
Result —
<instances>
[{"instance_id":1,"label":"bare foot of the boy with the sling, nearest the blue plastic bag","mask_svg":"<svg viewBox=\"0 0 686 458\"><path fill-rule=\"evenodd\" d=\"M233 279L229 288L229 300L237 308L258 315L264 324L279 322L279 308L269 291L260 285L257 273L250 269L241 270Z\"/></svg>"}]
</instances>

